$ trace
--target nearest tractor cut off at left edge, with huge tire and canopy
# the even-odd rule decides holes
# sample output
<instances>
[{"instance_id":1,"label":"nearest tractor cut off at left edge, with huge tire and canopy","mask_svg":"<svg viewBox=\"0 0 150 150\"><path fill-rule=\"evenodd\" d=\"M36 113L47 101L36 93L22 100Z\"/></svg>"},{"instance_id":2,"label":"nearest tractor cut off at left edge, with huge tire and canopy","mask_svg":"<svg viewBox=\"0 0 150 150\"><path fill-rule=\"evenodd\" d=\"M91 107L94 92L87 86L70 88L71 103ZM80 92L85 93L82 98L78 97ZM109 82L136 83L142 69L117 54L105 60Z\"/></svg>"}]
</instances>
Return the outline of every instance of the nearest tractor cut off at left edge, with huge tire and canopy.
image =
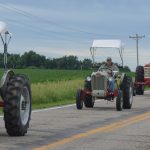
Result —
<instances>
[{"instance_id":1,"label":"nearest tractor cut off at left edge, with huge tire and canopy","mask_svg":"<svg viewBox=\"0 0 150 150\"><path fill-rule=\"evenodd\" d=\"M3 108L5 128L9 136L24 136L31 116L31 88L24 74L15 74L7 68L7 48L11 33L0 22L0 38L4 47L4 73L0 80L0 107Z\"/></svg>"}]
</instances>

